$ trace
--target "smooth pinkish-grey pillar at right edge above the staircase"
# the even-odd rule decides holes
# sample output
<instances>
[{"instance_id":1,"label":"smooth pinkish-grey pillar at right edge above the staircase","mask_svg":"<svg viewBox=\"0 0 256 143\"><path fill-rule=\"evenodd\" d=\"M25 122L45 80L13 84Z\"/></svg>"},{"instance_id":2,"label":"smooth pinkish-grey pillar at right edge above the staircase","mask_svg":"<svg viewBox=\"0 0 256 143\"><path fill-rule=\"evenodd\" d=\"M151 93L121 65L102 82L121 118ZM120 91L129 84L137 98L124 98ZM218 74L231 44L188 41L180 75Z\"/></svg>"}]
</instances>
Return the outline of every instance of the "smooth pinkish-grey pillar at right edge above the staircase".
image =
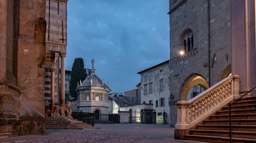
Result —
<instances>
[{"instance_id":1,"label":"smooth pinkish-grey pillar at right edge above the staircase","mask_svg":"<svg viewBox=\"0 0 256 143\"><path fill-rule=\"evenodd\" d=\"M231 0L232 75L241 77L240 94L256 86L255 1Z\"/></svg>"}]
</instances>

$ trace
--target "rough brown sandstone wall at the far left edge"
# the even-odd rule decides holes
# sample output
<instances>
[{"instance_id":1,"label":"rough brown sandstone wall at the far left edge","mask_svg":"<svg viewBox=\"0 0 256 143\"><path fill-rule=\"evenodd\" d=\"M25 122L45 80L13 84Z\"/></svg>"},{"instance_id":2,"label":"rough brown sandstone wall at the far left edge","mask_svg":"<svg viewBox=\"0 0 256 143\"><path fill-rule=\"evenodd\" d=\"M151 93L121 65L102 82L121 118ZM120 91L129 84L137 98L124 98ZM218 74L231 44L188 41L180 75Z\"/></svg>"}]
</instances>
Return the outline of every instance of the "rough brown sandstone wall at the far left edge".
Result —
<instances>
[{"instance_id":1,"label":"rough brown sandstone wall at the far left edge","mask_svg":"<svg viewBox=\"0 0 256 143\"><path fill-rule=\"evenodd\" d=\"M1 0L0 138L44 135L46 0Z\"/></svg>"}]
</instances>

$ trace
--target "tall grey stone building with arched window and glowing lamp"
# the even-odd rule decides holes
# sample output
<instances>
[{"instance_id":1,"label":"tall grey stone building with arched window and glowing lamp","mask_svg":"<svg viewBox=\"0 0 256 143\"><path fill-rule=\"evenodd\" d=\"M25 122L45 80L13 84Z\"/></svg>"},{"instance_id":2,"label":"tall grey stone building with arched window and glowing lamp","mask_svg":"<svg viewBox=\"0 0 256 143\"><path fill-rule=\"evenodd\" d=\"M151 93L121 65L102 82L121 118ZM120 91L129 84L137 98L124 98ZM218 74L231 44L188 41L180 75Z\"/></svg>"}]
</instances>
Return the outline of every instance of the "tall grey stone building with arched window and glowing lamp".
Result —
<instances>
[{"instance_id":1,"label":"tall grey stone building with arched window and glowing lamp","mask_svg":"<svg viewBox=\"0 0 256 143\"><path fill-rule=\"evenodd\" d=\"M175 103L186 100L191 87L205 90L231 73L230 0L169 0L168 14L169 117L174 126Z\"/></svg>"}]
</instances>

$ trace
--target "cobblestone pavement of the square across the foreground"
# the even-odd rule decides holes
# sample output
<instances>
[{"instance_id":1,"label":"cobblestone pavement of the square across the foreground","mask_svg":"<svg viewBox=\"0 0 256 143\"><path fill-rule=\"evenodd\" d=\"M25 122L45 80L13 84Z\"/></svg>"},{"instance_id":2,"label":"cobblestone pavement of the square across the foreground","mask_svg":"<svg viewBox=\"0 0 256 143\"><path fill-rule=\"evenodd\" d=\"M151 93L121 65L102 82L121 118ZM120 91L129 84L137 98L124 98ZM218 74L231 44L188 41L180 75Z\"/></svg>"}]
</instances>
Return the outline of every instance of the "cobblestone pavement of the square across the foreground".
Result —
<instances>
[{"instance_id":1,"label":"cobblestone pavement of the square across the foreground","mask_svg":"<svg viewBox=\"0 0 256 143\"><path fill-rule=\"evenodd\" d=\"M98 130L46 130L45 136L0 139L0 143L189 143L174 140L174 128L154 124L96 124ZM198 142L190 142L198 143Z\"/></svg>"}]
</instances>

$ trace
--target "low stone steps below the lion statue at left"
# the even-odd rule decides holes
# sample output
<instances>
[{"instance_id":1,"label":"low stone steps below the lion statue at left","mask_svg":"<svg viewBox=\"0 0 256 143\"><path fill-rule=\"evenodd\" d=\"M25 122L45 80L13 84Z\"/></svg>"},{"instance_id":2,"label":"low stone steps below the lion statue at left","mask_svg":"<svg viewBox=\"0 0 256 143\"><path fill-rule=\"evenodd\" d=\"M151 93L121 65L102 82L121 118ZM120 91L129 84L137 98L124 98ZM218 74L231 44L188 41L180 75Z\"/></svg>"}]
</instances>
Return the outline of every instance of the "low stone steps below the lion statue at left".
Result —
<instances>
[{"instance_id":1,"label":"low stone steps below the lion statue at left","mask_svg":"<svg viewBox=\"0 0 256 143\"><path fill-rule=\"evenodd\" d=\"M46 117L45 129L100 129L82 121L77 121L72 117Z\"/></svg>"}]
</instances>

